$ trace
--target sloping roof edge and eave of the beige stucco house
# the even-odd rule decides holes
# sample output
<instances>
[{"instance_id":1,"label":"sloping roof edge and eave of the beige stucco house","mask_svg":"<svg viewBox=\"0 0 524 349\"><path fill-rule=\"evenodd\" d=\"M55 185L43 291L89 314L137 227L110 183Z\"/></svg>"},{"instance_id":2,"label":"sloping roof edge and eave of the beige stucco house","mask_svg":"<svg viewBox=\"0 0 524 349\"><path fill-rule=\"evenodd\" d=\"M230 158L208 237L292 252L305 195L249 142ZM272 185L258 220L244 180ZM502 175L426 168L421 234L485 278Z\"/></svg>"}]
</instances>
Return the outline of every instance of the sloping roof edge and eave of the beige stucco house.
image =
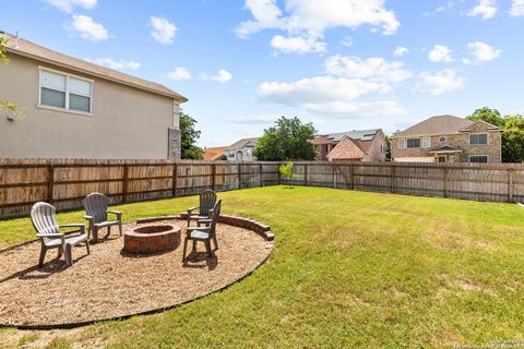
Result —
<instances>
[{"instance_id":1,"label":"sloping roof edge and eave of the beige stucco house","mask_svg":"<svg viewBox=\"0 0 524 349\"><path fill-rule=\"evenodd\" d=\"M60 65L62 68L81 72L87 75L114 81L140 89L145 89L152 93L171 97L180 103L188 101L188 98L167 88L164 85L136 76L128 75L112 69L108 69L63 53L59 53L22 38L17 39L17 47L14 47L15 38L12 35L0 32L0 36L3 36L9 40L7 50L10 53L28 57L38 61Z\"/></svg>"}]
</instances>

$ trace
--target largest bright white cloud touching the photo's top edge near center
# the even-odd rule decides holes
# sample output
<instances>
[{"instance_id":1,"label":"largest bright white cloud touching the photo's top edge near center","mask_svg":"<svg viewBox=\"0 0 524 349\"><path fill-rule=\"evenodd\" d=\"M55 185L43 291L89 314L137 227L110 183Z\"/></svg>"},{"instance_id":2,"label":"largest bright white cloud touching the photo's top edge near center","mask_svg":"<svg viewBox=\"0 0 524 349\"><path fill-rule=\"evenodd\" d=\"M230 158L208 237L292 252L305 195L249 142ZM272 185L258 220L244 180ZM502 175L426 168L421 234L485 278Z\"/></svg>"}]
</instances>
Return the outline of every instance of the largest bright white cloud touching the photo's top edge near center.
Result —
<instances>
[{"instance_id":1,"label":"largest bright white cloud touching the photo's top edge near center","mask_svg":"<svg viewBox=\"0 0 524 349\"><path fill-rule=\"evenodd\" d=\"M401 24L395 13L384 8L384 2L385 0L285 0L284 14L276 0L246 0L246 9L251 12L253 20L240 23L236 33L246 38L263 29L281 29L287 32L289 38L301 37L301 46L305 37L308 38L306 41L315 43L326 29L340 26L356 29L368 24L391 35ZM321 50L317 47L315 50L308 51Z\"/></svg>"}]
</instances>

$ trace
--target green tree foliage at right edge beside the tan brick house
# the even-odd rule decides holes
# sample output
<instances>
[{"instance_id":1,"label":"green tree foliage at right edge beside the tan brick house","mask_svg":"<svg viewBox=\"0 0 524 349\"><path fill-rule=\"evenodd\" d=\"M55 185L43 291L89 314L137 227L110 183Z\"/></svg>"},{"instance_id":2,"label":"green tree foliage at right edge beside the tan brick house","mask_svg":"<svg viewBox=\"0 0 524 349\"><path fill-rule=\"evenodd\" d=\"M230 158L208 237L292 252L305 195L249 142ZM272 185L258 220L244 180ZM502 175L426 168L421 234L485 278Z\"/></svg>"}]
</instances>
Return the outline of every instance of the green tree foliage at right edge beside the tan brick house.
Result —
<instances>
[{"instance_id":1,"label":"green tree foliage at right edge beside the tan brick house","mask_svg":"<svg viewBox=\"0 0 524 349\"><path fill-rule=\"evenodd\" d=\"M520 115L501 116L497 109L487 107L477 109L466 119L484 120L501 128L502 161L524 163L524 117Z\"/></svg>"}]
</instances>

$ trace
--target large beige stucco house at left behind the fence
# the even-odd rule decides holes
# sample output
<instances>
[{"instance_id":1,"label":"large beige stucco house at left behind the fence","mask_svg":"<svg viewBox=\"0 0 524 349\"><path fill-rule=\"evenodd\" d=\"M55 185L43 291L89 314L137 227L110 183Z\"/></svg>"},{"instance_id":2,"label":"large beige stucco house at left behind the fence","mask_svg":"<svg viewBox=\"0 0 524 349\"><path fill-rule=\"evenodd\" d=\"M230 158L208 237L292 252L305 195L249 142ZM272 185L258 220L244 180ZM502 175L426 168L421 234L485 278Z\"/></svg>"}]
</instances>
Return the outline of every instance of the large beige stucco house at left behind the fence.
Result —
<instances>
[{"instance_id":1,"label":"large beige stucco house at left behind the fence","mask_svg":"<svg viewBox=\"0 0 524 349\"><path fill-rule=\"evenodd\" d=\"M188 99L135 76L8 38L0 158L180 158L179 105Z\"/></svg>"}]
</instances>

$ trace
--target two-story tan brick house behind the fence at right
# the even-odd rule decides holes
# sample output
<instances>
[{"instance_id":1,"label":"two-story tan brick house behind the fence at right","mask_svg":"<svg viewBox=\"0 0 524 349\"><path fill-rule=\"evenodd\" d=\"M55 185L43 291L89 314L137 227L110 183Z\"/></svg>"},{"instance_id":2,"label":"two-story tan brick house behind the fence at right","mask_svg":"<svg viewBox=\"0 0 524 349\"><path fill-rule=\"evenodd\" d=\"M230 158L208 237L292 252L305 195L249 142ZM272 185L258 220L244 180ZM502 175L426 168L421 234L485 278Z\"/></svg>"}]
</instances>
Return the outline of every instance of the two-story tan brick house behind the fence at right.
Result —
<instances>
[{"instance_id":1,"label":"two-story tan brick house behind the fence at right","mask_svg":"<svg viewBox=\"0 0 524 349\"><path fill-rule=\"evenodd\" d=\"M429 118L391 137L394 161L501 163L502 130L453 116Z\"/></svg>"}]
</instances>

